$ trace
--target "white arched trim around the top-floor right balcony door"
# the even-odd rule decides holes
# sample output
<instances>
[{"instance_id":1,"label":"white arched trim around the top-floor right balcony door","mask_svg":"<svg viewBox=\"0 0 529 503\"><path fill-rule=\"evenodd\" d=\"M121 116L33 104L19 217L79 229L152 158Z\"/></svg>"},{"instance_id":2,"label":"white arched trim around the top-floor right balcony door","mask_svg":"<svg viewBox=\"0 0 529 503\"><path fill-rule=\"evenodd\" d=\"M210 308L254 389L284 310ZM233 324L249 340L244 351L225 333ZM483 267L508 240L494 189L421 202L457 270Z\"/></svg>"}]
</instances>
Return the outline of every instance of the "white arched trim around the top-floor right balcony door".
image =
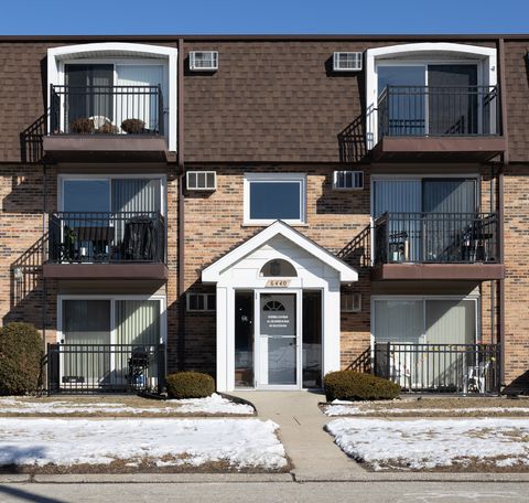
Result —
<instances>
[{"instance_id":1,"label":"white arched trim around the top-floor right balcony door","mask_svg":"<svg viewBox=\"0 0 529 503\"><path fill-rule=\"evenodd\" d=\"M453 55L453 57L451 57ZM377 64L421 65L433 63L475 63L478 64L478 84L495 86L497 84L496 49L478 45L454 44L444 42L424 42L400 44L366 51L366 140L368 150L378 142L378 73ZM479 71L481 67L481 71Z\"/></svg>"}]
</instances>

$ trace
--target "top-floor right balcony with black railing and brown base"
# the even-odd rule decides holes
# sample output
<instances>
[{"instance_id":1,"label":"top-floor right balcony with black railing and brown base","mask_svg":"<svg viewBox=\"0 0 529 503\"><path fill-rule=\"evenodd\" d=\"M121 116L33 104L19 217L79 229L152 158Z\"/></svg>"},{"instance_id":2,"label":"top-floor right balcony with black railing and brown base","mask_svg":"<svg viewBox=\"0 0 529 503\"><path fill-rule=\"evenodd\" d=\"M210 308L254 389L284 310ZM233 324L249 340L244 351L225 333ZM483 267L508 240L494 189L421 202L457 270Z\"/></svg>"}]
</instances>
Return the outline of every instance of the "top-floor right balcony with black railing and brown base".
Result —
<instances>
[{"instance_id":1,"label":"top-floor right balcony with black railing and brown base","mask_svg":"<svg viewBox=\"0 0 529 503\"><path fill-rule=\"evenodd\" d=\"M387 86L377 110L377 161L483 162L506 149L496 86Z\"/></svg>"}]
</instances>

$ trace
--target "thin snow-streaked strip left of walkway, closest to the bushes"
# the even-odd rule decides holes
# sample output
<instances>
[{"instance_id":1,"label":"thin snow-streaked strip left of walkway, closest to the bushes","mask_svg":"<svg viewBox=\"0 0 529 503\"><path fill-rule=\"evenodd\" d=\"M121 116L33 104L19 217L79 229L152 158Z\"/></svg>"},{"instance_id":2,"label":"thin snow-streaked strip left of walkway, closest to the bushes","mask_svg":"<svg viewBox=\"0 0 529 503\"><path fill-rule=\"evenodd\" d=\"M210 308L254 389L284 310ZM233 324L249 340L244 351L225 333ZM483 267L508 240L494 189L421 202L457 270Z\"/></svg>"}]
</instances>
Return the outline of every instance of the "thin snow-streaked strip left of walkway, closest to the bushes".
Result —
<instances>
[{"instance_id":1,"label":"thin snow-streaked strip left of walkway, closest to the bushes","mask_svg":"<svg viewBox=\"0 0 529 503\"><path fill-rule=\"evenodd\" d=\"M164 407L151 406L152 404L164 404ZM207 398L193 398L185 400L165 400L152 402L145 407L131 407L119 403L105 402L74 402L74 400L56 400L47 402L39 398L20 399L20 398L0 398L0 415L2 414L20 414L35 415L42 414L53 415L130 415L137 416L141 414L217 414L217 415L252 415L253 408L249 405L236 404L223 398L220 395L213 394Z\"/></svg>"}]
</instances>

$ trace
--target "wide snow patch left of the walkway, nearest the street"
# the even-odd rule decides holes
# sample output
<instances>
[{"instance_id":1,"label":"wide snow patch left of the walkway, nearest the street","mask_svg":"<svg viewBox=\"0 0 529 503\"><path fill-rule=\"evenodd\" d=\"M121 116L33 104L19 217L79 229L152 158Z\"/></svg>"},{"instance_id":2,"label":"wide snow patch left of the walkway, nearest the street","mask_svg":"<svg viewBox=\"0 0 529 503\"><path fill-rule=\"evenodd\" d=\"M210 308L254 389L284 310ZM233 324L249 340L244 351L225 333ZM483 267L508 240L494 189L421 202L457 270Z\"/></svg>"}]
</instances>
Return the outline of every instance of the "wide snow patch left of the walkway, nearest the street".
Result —
<instances>
[{"instance_id":1,"label":"wide snow patch left of the walkway, nearest the street","mask_svg":"<svg viewBox=\"0 0 529 503\"><path fill-rule=\"evenodd\" d=\"M259 419L29 419L0 418L0 465L108 464L148 460L158 467L287 465L278 426Z\"/></svg>"}]
</instances>

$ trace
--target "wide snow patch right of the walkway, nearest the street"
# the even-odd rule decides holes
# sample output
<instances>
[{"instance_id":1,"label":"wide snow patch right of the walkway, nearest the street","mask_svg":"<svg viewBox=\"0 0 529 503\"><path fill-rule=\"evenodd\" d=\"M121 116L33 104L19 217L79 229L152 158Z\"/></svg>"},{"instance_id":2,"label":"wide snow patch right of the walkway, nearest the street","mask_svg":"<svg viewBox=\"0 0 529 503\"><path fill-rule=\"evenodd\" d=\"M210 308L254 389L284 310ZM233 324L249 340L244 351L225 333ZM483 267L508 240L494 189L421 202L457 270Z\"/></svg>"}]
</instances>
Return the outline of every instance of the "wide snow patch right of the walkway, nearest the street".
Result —
<instances>
[{"instance_id":1,"label":"wide snow patch right of the walkway, nearest the street","mask_svg":"<svg viewBox=\"0 0 529 503\"><path fill-rule=\"evenodd\" d=\"M527 419L335 419L326 428L344 452L375 470L465 461L529 467Z\"/></svg>"}]
</instances>

